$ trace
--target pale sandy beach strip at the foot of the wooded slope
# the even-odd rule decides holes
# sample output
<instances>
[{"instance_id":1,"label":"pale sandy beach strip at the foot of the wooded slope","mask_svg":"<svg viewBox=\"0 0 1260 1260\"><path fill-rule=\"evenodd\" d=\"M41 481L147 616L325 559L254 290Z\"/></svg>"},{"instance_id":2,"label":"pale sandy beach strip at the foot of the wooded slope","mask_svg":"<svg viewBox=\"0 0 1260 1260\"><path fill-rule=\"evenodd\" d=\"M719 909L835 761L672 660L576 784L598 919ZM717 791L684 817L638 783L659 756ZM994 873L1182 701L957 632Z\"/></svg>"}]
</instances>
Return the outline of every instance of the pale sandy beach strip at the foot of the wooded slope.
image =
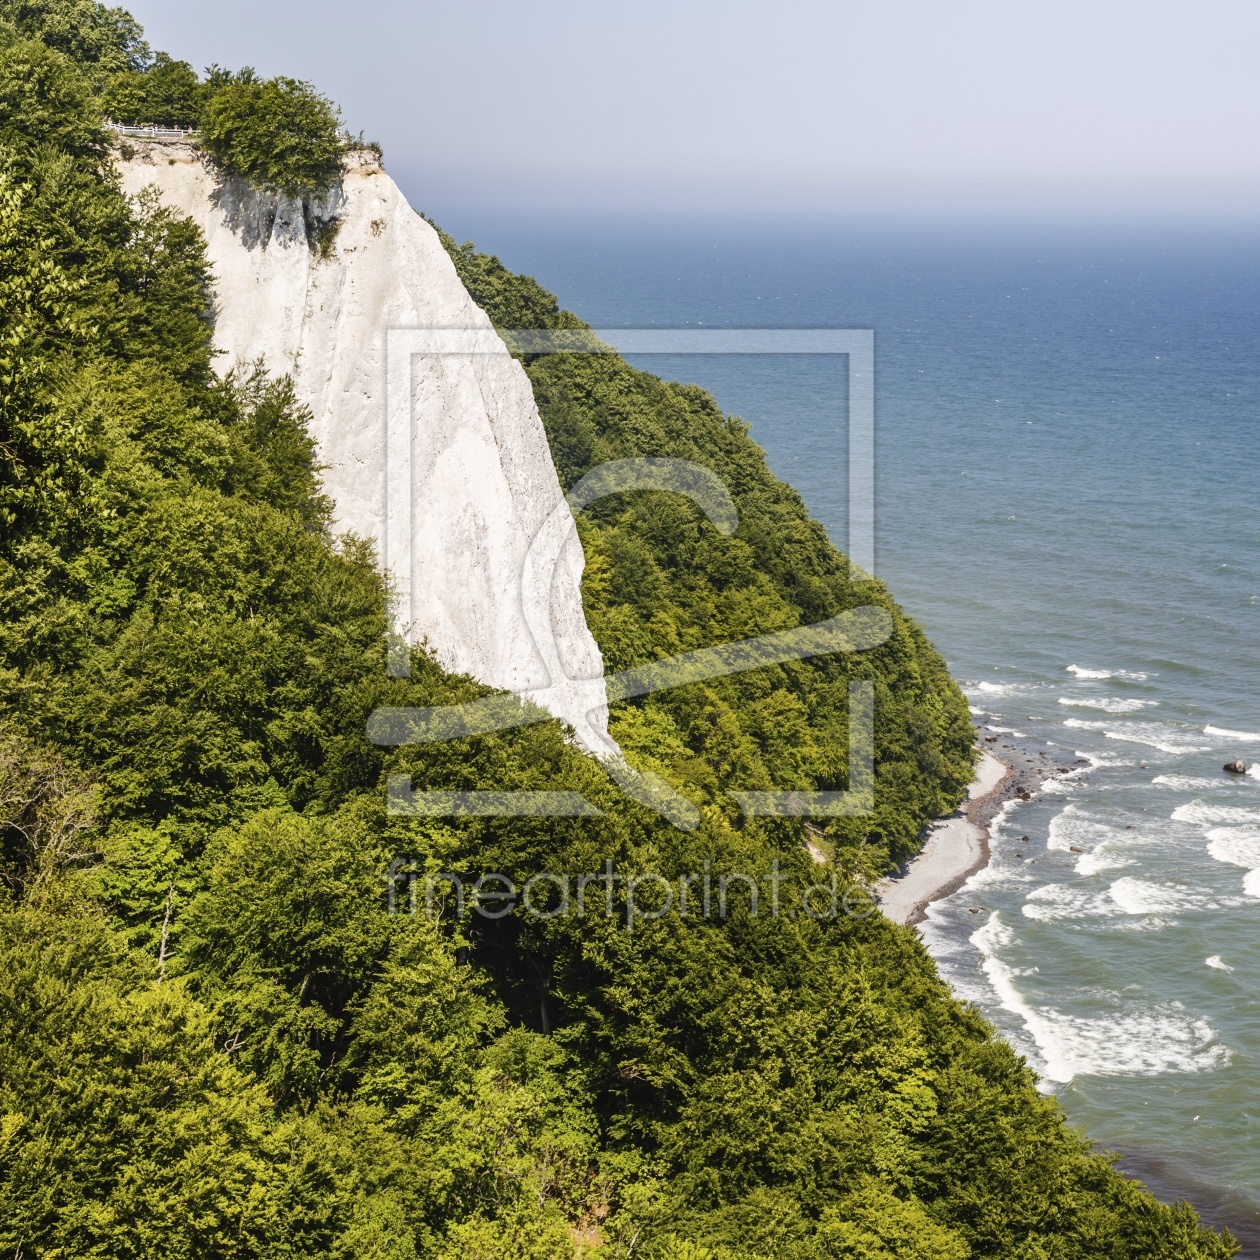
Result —
<instances>
[{"instance_id":1,"label":"pale sandy beach strip at the foot of the wooded slope","mask_svg":"<svg viewBox=\"0 0 1260 1260\"><path fill-rule=\"evenodd\" d=\"M989 861L989 830L978 819L985 805L1014 779L1014 770L982 751L963 808L934 823L922 850L905 874L876 888L879 908L896 924L920 924L927 906L956 892Z\"/></svg>"}]
</instances>

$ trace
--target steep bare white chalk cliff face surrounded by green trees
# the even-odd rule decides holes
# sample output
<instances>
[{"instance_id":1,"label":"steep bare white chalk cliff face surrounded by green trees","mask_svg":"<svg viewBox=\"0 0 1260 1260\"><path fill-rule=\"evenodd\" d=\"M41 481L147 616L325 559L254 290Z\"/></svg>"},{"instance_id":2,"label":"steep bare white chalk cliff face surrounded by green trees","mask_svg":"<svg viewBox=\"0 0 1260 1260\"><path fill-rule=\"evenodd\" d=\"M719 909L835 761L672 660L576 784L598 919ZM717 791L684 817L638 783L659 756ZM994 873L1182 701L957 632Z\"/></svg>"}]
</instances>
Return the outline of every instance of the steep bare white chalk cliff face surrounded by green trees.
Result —
<instances>
[{"instance_id":1,"label":"steep bare white chalk cliff face surrounded by green trees","mask_svg":"<svg viewBox=\"0 0 1260 1260\"><path fill-rule=\"evenodd\" d=\"M292 375L336 527L378 544L399 627L615 753L582 549L529 381L437 233L367 156L304 204L220 183L190 145L134 147L123 188L155 185L205 234L220 370L261 358ZM321 253L307 239L334 219Z\"/></svg>"}]
</instances>

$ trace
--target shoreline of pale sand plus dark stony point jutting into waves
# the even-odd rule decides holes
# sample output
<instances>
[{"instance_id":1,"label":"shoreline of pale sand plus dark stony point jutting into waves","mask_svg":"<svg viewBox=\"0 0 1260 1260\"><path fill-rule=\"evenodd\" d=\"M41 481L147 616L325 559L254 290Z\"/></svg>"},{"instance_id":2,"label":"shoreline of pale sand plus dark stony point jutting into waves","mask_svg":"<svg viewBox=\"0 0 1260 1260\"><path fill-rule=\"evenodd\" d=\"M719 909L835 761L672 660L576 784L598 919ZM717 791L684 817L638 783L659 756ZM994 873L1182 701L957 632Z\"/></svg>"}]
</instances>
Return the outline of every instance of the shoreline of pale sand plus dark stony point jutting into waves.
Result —
<instances>
[{"instance_id":1,"label":"shoreline of pale sand plus dark stony point jutting into waves","mask_svg":"<svg viewBox=\"0 0 1260 1260\"><path fill-rule=\"evenodd\" d=\"M922 848L900 874L876 886L879 910L895 924L921 924L934 901L958 892L989 864L989 824L1005 801L1031 800L1047 779L1079 769L1066 761L1056 764L1065 760L1062 750L1055 750L1057 756L1048 750L1033 752L1026 747L1027 736L1009 735L1018 742L1003 741L1004 757L998 756L993 736L983 737L966 799L948 818L929 827Z\"/></svg>"}]
</instances>

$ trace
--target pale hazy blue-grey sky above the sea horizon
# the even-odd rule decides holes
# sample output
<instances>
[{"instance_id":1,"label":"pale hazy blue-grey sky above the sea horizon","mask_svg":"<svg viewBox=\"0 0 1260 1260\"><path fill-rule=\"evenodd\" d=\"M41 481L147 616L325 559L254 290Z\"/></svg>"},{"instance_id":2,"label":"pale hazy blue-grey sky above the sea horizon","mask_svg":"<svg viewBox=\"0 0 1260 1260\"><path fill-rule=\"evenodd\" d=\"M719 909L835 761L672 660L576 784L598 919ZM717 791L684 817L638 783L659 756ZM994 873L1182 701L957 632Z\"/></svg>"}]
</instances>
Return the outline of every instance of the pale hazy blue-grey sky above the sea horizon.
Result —
<instances>
[{"instance_id":1,"label":"pale hazy blue-grey sky above the sea horizon","mask_svg":"<svg viewBox=\"0 0 1260 1260\"><path fill-rule=\"evenodd\" d=\"M136 0L417 204L1260 215L1256 0Z\"/></svg>"}]
</instances>

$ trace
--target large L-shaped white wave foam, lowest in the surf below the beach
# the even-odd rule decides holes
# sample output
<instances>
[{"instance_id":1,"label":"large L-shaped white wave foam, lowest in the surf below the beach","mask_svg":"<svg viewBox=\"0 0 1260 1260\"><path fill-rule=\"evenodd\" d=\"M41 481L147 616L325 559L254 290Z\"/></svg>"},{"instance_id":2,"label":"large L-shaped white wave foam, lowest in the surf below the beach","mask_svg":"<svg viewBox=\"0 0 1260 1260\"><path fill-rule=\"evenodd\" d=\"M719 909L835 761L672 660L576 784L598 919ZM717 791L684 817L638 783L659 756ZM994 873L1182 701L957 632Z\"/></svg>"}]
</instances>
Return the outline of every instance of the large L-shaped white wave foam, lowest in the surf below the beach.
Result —
<instances>
[{"instance_id":1,"label":"large L-shaped white wave foam, lowest in the surf below the beach","mask_svg":"<svg viewBox=\"0 0 1260 1260\"><path fill-rule=\"evenodd\" d=\"M1045 1061L1043 1075L1052 1081L1205 1072L1230 1061L1228 1047L1216 1045L1211 1024L1184 1014L1177 1003L1131 1008L1104 1018L1081 1018L1033 1005L1019 992L1014 969L999 956L999 950L1017 941L997 912L971 934L971 944L980 953L998 1003L1023 1021Z\"/></svg>"}]
</instances>

